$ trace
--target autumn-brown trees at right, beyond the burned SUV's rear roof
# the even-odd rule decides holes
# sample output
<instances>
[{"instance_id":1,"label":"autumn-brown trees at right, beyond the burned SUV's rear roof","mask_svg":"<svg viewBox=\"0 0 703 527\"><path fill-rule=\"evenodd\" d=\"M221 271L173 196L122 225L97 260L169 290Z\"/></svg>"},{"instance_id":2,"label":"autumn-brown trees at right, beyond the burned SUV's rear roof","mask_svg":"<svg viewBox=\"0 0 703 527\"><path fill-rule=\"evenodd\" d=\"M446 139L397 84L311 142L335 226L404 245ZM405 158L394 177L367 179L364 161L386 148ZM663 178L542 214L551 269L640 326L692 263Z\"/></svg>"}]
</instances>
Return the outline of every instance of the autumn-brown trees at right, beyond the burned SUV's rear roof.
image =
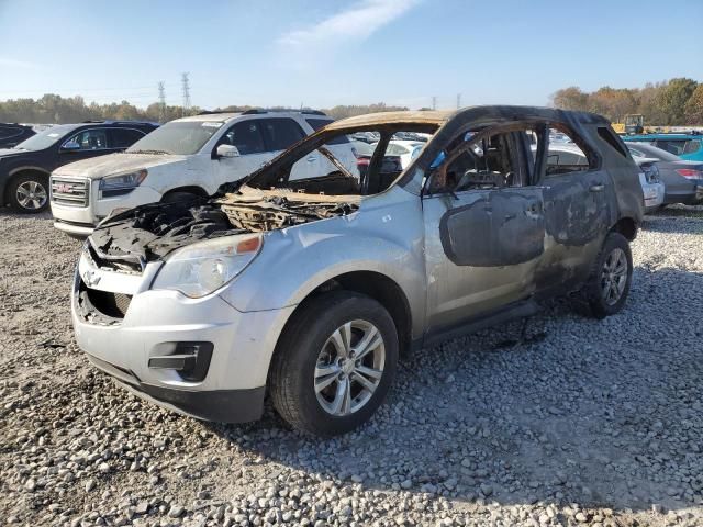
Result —
<instances>
[{"instance_id":1,"label":"autumn-brown trees at right, beyond the burned SUV's rear roof","mask_svg":"<svg viewBox=\"0 0 703 527\"><path fill-rule=\"evenodd\" d=\"M571 86L551 96L551 103L563 110L581 110L622 123L627 114L641 114L652 126L703 125L703 83L674 78L648 83L644 88L611 88L592 92Z\"/></svg>"}]
</instances>

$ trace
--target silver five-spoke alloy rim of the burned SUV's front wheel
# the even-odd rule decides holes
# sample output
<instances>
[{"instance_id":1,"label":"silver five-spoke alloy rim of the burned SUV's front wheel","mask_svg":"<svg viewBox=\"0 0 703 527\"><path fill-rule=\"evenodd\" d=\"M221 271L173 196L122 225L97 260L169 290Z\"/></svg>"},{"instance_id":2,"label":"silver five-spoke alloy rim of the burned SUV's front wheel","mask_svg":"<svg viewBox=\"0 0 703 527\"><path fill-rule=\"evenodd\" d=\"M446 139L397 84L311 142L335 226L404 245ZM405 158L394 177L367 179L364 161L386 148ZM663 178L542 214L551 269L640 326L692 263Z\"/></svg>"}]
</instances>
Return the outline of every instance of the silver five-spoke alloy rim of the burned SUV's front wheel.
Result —
<instances>
[{"instance_id":1,"label":"silver five-spoke alloy rim of the burned SUV's front wheel","mask_svg":"<svg viewBox=\"0 0 703 527\"><path fill-rule=\"evenodd\" d=\"M376 393L384 366L381 332L367 321L343 324L317 355L313 380L317 402L336 417L359 411Z\"/></svg>"}]
</instances>

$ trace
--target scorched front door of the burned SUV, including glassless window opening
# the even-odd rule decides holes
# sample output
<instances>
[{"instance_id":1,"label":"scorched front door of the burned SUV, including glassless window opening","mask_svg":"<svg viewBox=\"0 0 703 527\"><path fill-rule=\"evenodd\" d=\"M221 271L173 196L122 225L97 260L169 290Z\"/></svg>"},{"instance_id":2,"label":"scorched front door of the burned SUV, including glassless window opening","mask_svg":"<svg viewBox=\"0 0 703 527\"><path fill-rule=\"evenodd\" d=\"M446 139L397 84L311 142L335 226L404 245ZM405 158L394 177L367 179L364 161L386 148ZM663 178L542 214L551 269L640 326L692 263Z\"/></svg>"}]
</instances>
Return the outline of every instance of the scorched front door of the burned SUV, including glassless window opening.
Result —
<instances>
[{"instance_id":1,"label":"scorched front door of the burned SUV, including glassless window opening","mask_svg":"<svg viewBox=\"0 0 703 527\"><path fill-rule=\"evenodd\" d=\"M471 147L476 138L468 137L466 146L459 139L427 180L423 215L429 333L533 292L544 254L543 189L532 184L532 156L521 134L489 133Z\"/></svg>"}]
</instances>

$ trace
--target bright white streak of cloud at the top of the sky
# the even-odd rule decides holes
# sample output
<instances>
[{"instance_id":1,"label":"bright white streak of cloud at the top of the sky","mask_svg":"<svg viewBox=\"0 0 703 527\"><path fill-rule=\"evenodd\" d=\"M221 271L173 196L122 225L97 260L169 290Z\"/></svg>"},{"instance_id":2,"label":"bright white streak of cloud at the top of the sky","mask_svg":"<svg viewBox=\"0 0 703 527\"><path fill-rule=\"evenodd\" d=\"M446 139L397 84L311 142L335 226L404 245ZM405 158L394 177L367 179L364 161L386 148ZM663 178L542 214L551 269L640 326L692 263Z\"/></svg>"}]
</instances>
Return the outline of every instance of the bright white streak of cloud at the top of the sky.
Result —
<instances>
[{"instance_id":1,"label":"bright white streak of cloud at the top of the sky","mask_svg":"<svg viewBox=\"0 0 703 527\"><path fill-rule=\"evenodd\" d=\"M319 58L349 42L361 42L419 3L420 0L361 0L305 30L277 40L297 64Z\"/></svg>"}]
</instances>

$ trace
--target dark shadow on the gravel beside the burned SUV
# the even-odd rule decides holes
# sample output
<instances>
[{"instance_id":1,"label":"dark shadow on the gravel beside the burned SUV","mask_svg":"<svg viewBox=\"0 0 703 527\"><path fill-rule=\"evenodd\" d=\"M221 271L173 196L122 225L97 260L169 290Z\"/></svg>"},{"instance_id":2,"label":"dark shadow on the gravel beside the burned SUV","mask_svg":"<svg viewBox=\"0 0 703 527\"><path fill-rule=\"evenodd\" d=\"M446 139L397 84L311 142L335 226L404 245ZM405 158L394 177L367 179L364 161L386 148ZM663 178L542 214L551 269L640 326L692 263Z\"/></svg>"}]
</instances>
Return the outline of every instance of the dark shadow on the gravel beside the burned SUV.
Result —
<instances>
[{"instance_id":1,"label":"dark shadow on the gravel beside the burned SUV","mask_svg":"<svg viewBox=\"0 0 703 527\"><path fill-rule=\"evenodd\" d=\"M270 408L253 425L207 426L267 461L469 508L700 505L703 329L681 323L694 305L703 274L637 268L617 316L555 303L524 333L516 322L420 351L357 433L305 437Z\"/></svg>"}]
</instances>

